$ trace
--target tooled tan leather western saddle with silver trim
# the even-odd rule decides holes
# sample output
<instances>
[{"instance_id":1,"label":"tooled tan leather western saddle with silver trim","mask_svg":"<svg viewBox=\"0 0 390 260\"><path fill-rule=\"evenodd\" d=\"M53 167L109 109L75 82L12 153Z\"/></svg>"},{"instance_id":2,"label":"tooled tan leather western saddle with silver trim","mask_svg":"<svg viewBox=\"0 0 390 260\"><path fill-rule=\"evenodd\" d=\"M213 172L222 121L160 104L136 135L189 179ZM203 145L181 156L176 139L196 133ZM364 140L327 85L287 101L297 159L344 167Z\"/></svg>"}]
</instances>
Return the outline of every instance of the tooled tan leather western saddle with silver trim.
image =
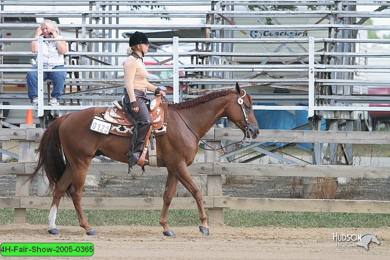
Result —
<instances>
[{"instance_id":1,"label":"tooled tan leather western saddle with silver trim","mask_svg":"<svg viewBox=\"0 0 390 260\"><path fill-rule=\"evenodd\" d=\"M113 106L96 107L94 116L100 120L111 123L110 134L131 137L133 136L133 123L127 118L126 112L123 110L123 105L120 100L113 101ZM168 103L162 102L161 99L155 97L150 102L149 115L152 122L152 134L154 136L163 135L167 129L167 122L164 114L167 113Z\"/></svg>"}]
</instances>

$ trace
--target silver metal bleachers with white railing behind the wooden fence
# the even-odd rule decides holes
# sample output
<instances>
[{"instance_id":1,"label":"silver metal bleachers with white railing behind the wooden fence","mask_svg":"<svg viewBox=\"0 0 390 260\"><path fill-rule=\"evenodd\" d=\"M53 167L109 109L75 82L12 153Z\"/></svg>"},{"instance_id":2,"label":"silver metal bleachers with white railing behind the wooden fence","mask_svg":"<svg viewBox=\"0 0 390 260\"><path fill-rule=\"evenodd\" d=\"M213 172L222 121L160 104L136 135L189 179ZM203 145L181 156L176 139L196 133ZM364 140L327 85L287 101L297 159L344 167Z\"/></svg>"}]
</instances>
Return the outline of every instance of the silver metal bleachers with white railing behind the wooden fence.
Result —
<instances>
[{"instance_id":1,"label":"silver metal bleachers with white railing behind the wooden fence","mask_svg":"<svg viewBox=\"0 0 390 260\"><path fill-rule=\"evenodd\" d=\"M48 5L55 11L49 12ZM12 8L18 6L31 10ZM388 96L365 92L370 86L390 86L388 80L368 76L389 74L386 62L369 64L368 60L389 57L390 41L367 37L367 32L390 30L390 25L365 23L369 18L389 18L389 12L384 12L389 6L390 1L368 0L2 0L0 30L37 28L37 23L4 22L7 18L55 17L60 21L61 35L69 44L69 77L60 106L39 103L34 113L41 117L53 110L63 114L119 99L127 38L140 30L154 43L155 51L145 58L153 61L148 70L171 72L170 78L150 79L157 86L173 86L170 100L195 98L239 82L253 96L254 109L308 111L309 119L346 120L343 127L352 130L354 122L360 128L370 126L368 111L390 111L386 105L368 105L389 103ZM3 34L0 41L28 44L31 40ZM382 46L383 51L371 51L372 44ZM33 54L28 47L6 50L5 45L0 57L30 58ZM30 67L0 62L3 75L20 75ZM26 92L3 91L5 85L25 83L22 77L0 77L0 109L37 108L29 104ZM9 127L22 120L3 117L2 124Z\"/></svg>"}]
</instances>

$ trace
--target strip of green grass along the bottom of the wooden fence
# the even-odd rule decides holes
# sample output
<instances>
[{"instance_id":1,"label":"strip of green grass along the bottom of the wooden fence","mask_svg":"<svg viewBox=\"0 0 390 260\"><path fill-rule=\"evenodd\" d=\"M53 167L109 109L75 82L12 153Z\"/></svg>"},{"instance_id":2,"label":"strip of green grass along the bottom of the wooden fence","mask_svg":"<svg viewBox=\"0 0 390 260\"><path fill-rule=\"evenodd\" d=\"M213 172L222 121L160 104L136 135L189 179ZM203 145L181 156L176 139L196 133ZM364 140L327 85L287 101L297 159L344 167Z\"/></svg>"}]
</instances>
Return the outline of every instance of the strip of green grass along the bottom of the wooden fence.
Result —
<instances>
[{"instance_id":1,"label":"strip of green grass along the bottom of the wooden fence","mask_svg":"<svg viewBox=\"0 0 390 260\"><path fill-rule=\"evenodd\" d=\"M92 226L142 225L159 226L161 210L85 210ZM34 225L48 224L49 210L27 209L26 222ZM390 214L320 213L288 211L225 210L224 223L232 227L291 227L291 228L380 228L390 226ZM13 222L14 210L0 210L0 225ZM170 210L171 226L197 226L197 210ZM59 210L57 224L78 226L75 210Z\"/></svg>"}]
</instances>

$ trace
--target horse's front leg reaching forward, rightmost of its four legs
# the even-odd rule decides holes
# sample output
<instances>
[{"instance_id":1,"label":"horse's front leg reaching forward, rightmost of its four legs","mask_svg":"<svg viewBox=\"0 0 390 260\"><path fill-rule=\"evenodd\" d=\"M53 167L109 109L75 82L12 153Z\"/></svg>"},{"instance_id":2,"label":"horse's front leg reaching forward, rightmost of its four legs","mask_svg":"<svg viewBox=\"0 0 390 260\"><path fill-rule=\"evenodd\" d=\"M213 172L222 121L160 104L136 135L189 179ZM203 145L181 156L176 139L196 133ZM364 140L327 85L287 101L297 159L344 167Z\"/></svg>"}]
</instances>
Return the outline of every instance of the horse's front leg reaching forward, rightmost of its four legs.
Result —
<instances>
[{"instance_id":1,"label":"horse's front leg reaching forward, rightmost of its four legs","mask_svg":"<svg viewBox=\"0 0 390 260\"><path fill-rule=\"evenodd\" d=\"M174 171L173 174L175 175L176 179L179 180L181 184L183 184L183 186L194 197L196 205L198 207L199 220L201 221L199 231L202 234L209 236L209 224L207 223L207 215L203 206L203 196L199 188L196 186L195 181L192 179L190 173L188 172L187 166L183 165L181 167L176 168L176 171Z\"/></svg>"}]
</instances>

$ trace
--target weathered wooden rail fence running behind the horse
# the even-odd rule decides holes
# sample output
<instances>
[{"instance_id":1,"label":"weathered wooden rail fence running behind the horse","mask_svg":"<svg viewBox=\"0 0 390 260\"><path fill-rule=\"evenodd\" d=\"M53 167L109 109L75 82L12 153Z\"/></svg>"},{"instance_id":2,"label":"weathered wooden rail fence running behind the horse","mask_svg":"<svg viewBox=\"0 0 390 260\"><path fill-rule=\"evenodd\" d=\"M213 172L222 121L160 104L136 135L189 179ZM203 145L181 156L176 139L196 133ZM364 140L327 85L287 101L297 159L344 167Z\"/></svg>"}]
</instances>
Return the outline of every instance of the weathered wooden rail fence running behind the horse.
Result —
<instances>
[{"instance_id":1,"label":"weathered wooden rail fence running behind the horse","mask_svg":"<svg viewBox=\"0 0 390 260\"><path fill-rule=\"evenodd\" d=\"M34 125L22 125L34 127ZM36 162L35 142L40 140L44 129L12 128L0 129L0 140L20 142L19 162L0 163L0 175L16 175L15 196L0 197L0 209L14 208L15 222L25 222L27 208L49 209L50 197L31 197L27 184L23 184L34 170ZM380 143L390 144L388 132L348 132L348 131L292 131L261 130L259 142L334 142L334 143ZM237 129L212 128L204 140L219 147L221 140L240 140L242 132ZM310 211L310 212L351 212L351 213L390 213L390 201L373 200L311 200L311 199L267 199L232 198L222 196L222 175L239 176L285 176L285 177L347 177L347 178L389 178L390 167L358 165L296 165L263 163L221 162L216 152L207 152L207 162L194 163L189 167L193 176L207 176L203 203L209 210L209 223L223 222L223 209L266 210L266 211ZM147 166L148 167L148 166ZM134 171L137 173L137 169ZM140 172L140 171L139 171ZM148 175L166 175L165 168L150 168ZM127 174L124 163L92 163L90 175ZM162 198L83 198L84 209L161 209ZM60 209L73 209L71 200L62 199ZM171 209L196 209L193 198L174 198Z\"/></svg>"}]
</instances>

